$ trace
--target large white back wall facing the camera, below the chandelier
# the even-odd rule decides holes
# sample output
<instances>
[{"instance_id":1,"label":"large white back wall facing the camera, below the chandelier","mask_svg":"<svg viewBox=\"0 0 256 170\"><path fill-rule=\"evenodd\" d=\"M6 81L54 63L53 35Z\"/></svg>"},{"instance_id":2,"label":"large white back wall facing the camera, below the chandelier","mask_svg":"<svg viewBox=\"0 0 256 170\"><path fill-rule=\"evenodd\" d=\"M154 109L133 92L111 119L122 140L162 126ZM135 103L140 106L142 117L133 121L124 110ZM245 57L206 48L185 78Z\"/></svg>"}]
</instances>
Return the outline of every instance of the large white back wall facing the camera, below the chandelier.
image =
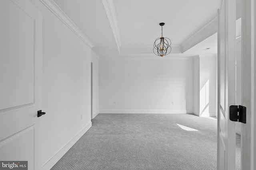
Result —
<instances>
[{"instance_id":1,"label":"large white back wall facing the camera, below the chandelier","mask_svg":"<svg viewBox=\"0 0 256 170\"><path fill-rule=\"evenodd\" d=\"M100 60L100 113L192 113L193 60Z\"/></svg>"}]
</instances>

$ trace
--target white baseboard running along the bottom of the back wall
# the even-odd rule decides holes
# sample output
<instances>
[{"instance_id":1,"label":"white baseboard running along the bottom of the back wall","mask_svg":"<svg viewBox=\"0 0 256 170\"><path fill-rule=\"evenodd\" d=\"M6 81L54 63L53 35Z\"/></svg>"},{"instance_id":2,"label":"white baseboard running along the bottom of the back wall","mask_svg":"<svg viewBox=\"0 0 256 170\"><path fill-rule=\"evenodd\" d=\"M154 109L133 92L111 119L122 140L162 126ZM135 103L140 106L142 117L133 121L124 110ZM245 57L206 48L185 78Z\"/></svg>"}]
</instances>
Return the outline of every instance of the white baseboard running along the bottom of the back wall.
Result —
<instances>
[{"instance_id":1,"label":"white baseboard running along the bottom of the back wall","mask_svg":"<svg viewBox=\"0 0 256 170\"><path fill-rule=\"evenodd\" d=\"M162 113L162 114L186 114L186 110L100 110L100 113Z\"/></svg>"}]
</instances>

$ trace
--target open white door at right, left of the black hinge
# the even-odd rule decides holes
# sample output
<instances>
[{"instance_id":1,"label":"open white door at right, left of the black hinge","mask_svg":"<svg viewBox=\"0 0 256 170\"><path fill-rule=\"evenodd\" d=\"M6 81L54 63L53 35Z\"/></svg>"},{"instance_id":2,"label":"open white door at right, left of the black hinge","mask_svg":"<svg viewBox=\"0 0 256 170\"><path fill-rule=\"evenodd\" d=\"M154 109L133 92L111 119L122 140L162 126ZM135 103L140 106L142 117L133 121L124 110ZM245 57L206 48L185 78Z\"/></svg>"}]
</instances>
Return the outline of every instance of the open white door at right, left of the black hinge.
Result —
<instances>
[{"instance_id":1,"label":"open white door at right, left of the black hinge","mask_svg":"<svg viewBox=\"0 0 256 170\"><path fill-rule=\"evenodd\" d=\"M221 0L218 10L218 170L235 169L236 0Z\"/></svg>"}]
</instances>

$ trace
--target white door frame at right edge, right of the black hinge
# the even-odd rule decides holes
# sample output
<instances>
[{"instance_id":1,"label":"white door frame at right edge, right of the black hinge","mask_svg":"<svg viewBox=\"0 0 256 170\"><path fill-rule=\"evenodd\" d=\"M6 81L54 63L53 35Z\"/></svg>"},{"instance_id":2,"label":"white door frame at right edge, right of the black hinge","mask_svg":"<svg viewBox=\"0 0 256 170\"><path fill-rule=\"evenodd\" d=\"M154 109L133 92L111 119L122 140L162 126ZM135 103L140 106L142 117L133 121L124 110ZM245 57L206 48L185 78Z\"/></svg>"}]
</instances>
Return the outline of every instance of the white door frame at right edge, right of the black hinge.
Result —
<instances>
[{"instance_id":1,"label":"white door frame at right edge, right of the black hinge","mask_svg":"<svg viewBox=\"0 0 256 170\"><path fill-rule=\"evenodd\" d=\"M246 124L241 123L241 170L256 170L256 2L241 3L241 105L246 107Z\"/></svg>"}]
</instances>

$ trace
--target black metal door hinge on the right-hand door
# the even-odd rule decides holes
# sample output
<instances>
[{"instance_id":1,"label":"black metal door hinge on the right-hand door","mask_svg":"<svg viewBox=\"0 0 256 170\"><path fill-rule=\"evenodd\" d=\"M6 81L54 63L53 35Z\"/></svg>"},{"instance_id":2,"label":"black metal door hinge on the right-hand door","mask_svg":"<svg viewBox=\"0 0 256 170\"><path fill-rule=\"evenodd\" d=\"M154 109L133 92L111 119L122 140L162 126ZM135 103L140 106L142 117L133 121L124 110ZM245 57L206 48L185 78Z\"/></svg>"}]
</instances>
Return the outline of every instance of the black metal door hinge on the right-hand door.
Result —
<instances>
[{"instance_id":1,"label":"black metal door hinge on the right-hand door","mask_svg":"<svg viewBox=\"0 0 256 170\"><path fill-rule=\"evenodd\" d=\"M246 107L232 105L229 107L229 119L231 121L238 121L246 123Z\"/></svg>"}]
</instances>

